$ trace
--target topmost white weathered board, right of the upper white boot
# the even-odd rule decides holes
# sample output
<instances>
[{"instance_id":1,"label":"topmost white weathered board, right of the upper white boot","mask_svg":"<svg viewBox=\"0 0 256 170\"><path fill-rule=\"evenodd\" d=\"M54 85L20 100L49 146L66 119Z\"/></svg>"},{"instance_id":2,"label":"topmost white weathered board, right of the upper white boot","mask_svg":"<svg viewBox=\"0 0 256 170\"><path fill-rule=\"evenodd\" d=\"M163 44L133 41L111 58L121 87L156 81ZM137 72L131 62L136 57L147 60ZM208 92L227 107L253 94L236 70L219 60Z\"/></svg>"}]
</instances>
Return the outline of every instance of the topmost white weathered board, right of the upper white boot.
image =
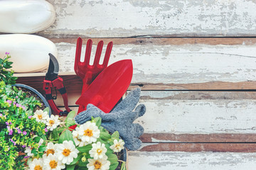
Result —
<instances>
[{"instance_id":1,"label":"topmost white weathered board, right of the upper white boot","mask_svg":"<svg viewBox=\"0 0 256 170\"><path fill-rule=\"evenodd\" d=\"M159 36L240 36L256 34L256 2L48 0L56 21L41 34L92 38Z\"/></svg>"}]
</instances>

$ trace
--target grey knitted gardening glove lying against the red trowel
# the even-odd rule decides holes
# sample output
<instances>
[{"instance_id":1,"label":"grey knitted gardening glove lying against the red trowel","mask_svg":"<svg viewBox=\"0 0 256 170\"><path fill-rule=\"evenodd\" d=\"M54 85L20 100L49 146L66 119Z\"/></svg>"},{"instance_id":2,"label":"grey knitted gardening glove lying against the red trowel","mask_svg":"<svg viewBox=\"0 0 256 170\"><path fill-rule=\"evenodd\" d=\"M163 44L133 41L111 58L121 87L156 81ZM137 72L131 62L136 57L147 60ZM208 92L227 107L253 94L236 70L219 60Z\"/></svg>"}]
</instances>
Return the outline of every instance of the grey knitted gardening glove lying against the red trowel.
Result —
<instances>
[{"instance_id":1,"label":"grey knitted gardening glove lying against the red trowel","mask_svg":"<svg viewBox=\"0 0 256 170\"><path fill-rule=\"evenodd\" d=\"M131 91L123 101L121 101L110 113L104 113L92 104L87 105L87 110L75 116L75 122L83 124L94 118L102 118L102 126L110 132L118 131L120 137L125 142L125 147L129 150L137 150L142 146L139 137L143 134L144 128L134 120L144 115L146 107L139 104L140 89ZM137 108L135 108L137 106ZM134 110L135 108L135 110Z\"/></svg>"}]
</instances>

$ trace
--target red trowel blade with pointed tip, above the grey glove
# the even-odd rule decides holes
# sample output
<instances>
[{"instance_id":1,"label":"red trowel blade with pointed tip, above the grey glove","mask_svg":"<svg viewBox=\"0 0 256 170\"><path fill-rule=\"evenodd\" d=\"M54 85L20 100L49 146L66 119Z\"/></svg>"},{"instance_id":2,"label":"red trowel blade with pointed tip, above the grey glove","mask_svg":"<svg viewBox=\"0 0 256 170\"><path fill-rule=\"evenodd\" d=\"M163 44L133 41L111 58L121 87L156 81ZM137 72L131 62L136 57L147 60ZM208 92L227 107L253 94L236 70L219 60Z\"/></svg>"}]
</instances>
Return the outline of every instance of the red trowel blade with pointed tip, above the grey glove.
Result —
<instances>
[{"instance_id":1,"label":"red trowel blade with pointed tip, above the grey glove","mask_svg":"<svg viewBox=\"0 0 256 170\"><path fill-rule=\"evenodd\" d=\"M104 69L76 104L86 108L91 103L105 113L110 113L115 104L127 91L132 80L132 60L114 62Z\"/></svg>"}]
</instances>

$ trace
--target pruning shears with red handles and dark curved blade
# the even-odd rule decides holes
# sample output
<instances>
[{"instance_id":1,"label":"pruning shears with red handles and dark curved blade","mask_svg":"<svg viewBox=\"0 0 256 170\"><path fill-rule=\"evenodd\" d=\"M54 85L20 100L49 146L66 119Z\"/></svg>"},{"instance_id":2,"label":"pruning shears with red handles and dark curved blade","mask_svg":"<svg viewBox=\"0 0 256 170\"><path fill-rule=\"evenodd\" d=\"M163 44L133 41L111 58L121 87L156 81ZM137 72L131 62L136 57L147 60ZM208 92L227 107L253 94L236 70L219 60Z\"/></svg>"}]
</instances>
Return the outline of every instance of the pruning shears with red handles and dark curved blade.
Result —
<instances>
[{"instance_id":1,"label":"pruning shears with red handles and dark curved blade","mask_svg":"<svg viewBox=\"0 0 256 170\"><path fill-rule=\"evenodd\" d=\"M53 109L55 114L67 115L70 112L70 108L68 108L68 95L65 87L63 86L63 79L58 77L58 60L50 53L49 56L50 62L48 72L46 73L46 77L43 80L43 90L46 91L46 100L50 104L50 108ZM56 99L56 96L52 95L53 89L58 89L58 91L60 91L61 96L63 96L63 102L66 111L61 111L53 101Z\"/></svg>"}]
</instances>

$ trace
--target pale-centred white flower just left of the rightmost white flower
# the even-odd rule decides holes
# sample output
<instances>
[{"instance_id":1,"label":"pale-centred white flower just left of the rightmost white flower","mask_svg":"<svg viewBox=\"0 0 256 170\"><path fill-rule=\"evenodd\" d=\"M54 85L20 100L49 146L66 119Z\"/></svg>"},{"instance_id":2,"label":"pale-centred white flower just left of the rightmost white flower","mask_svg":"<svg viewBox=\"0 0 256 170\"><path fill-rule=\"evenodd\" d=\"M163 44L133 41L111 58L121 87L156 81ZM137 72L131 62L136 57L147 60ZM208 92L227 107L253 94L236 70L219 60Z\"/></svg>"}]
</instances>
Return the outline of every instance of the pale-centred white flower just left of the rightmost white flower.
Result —
<instances>
[{"instance_id":1,"label":"pale-centred white flower just left of the rightmost white flower","mask_svg":"<svg viewBox=\"0 0 256 170\"><path fill-rule=\"evenodd\" d=\"M92 144L92 149L90 149L89 154L90 157L94 159L102 159L107 152L107 148L105 144L101 144L100 142Z\"/></svg>"}]
</instances>

